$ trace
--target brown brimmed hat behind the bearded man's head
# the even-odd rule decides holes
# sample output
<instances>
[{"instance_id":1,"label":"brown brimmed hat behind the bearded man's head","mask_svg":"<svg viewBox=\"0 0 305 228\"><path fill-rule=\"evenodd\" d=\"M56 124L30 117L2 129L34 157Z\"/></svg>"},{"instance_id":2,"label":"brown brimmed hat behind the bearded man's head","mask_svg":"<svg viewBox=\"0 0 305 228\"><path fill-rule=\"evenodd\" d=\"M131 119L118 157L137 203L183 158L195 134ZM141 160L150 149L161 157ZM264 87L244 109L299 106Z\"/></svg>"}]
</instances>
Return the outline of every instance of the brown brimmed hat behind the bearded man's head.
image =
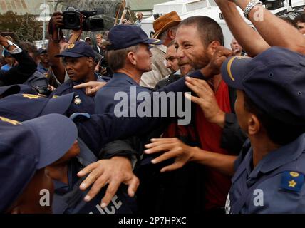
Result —
<instances>
[{"instance_id":1,"label":"brown brimmed hat behind the bearded man's head","mask_svg":"<svg viewBox=\"0 0 305 228\"><path fill-rule=\"evenodd\" d=\"M166 31L168 28L177 26L180 22L180 16L176 11L160 16L153 22L153 29L155 30L155 36L153 36L153 38L158 38L162 32Z\"/></svg>"}]
</instances>

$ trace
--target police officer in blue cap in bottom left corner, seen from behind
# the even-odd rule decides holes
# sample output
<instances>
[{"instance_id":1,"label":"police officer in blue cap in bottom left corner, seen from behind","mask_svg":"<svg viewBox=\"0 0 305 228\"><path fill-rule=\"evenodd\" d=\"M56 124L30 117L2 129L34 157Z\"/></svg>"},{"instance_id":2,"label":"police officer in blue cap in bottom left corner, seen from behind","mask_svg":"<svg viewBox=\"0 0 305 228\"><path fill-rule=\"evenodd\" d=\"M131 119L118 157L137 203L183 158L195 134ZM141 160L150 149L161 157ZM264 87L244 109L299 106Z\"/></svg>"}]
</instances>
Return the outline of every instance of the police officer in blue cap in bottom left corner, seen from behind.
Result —
<instances>
[{"instance_id":1,"label":"police officer in blue cap in bottom left corner, seen from behind","mask_svg":"<svg viewBox=\"0 0 305 228\"><path fill-rule=\"evenodd\" d=\"M39 203L41 190L48 191L50 202L53 196L53 182L45 167L73 145L76 125L63 115L50 114L24 122L0 116L0 127L0 212L52 213L51 204Z\"/></svg>"}]
</instances>

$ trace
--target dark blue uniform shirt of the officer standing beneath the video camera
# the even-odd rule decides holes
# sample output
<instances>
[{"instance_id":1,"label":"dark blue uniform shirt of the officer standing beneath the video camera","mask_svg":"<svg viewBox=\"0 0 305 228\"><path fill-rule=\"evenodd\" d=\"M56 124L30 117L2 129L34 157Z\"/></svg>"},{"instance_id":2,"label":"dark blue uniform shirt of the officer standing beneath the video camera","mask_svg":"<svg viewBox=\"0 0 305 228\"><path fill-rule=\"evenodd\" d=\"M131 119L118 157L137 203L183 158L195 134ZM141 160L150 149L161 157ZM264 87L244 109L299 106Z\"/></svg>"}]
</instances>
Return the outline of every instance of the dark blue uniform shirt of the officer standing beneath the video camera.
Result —
<instances>
[{"instance_id":1,"label":"dark blue uniform shirt of the officer standing beneath the video camera","mask_svg":"<svg viewBox=\"0 0 305 228\"><path fill-rule=\"evenodd\" d=\"M105 82L98 74L95 74L96 81ZM56 88L56 90L51 93L50 98L53 96L64 95L68 93L75 93L76 96L73 100L73 103L67 110L67 115L72 115L73 113L94 113L94 97L90 97L86 95L85 88L83 89L75 89L73 86L79 85L83 82L73 82L70 79L63 83L61 86Z\"/></svg>"}]
</instances>

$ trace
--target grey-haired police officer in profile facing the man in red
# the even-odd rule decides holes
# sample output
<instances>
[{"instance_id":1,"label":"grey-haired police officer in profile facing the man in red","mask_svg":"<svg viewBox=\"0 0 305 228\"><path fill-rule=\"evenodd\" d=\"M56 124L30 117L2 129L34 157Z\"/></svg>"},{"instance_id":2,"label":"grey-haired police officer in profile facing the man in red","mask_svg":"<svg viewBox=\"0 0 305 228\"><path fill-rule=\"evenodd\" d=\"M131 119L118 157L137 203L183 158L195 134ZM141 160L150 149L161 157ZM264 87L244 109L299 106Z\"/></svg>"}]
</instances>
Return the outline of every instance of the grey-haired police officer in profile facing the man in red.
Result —
<instances>
[{"instance_id":1,"label":"grey-haired police officer in profile facing the man in red","mask_svg":"<svg viewBox=\"0 0 305 228\"><path fill-rule=\"evenodd\" d=\"M113 112L115 93L126 92L130 95L130 88L135 88L137 94L150 91L139 85L140 78L144 72L152 69L153 54L149 44L162 43L149 39L139 26L115 26L109 31L108 39L108 63L114 74L108 85L95 96L96 113Z\"/></svg>"}]
</instances>

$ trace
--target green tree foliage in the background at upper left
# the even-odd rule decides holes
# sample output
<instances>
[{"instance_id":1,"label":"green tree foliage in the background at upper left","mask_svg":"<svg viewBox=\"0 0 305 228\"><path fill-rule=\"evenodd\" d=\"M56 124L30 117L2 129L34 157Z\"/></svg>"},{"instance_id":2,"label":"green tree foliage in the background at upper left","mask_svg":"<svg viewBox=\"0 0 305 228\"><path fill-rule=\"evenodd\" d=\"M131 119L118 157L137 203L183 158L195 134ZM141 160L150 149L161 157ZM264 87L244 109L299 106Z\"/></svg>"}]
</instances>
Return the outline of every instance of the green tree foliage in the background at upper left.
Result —
<instances>
[{"instance_id":1,"label":"green tree foliage in the background at upper left","mask_svg":"<svg viewBox=\"0 0 305 228\"><path fill-rule=\"evenodd\" d=\"M41 22L33 15L17 15L13 11L0 14L0 32L14 32L17 41L41 40L42 30Z\"/></svg>"}]
</instances>

